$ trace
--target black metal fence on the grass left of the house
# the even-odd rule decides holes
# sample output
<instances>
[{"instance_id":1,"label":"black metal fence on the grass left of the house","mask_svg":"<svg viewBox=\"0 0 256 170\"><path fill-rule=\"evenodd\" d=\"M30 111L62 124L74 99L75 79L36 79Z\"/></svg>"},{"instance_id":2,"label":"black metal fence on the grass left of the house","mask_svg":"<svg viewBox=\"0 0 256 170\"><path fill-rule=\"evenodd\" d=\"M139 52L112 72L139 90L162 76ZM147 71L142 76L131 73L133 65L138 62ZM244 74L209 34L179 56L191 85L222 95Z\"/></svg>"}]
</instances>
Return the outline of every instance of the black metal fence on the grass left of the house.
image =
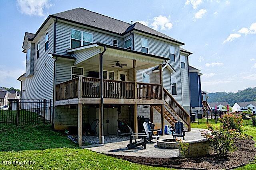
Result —
<instances>
[{"instance_id":1,"label":"black metal fence on the grass left of the house","mask_svg":"<svg viewBox=\"0 0 256 170\"><path fill-rule=\"evenodd\" d=\"M0 99L0 125L49 124L51 100Z\"/></svg>"}]
</instances>

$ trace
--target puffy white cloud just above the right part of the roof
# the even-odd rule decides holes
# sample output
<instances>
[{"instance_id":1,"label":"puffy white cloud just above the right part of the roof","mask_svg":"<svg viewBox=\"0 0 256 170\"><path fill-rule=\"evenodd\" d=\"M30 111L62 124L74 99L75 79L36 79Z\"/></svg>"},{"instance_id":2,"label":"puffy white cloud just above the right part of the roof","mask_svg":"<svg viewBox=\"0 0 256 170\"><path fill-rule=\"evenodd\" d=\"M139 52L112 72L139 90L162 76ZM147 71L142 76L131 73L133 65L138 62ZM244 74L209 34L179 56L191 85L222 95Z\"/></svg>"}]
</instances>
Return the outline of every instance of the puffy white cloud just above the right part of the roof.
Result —
<instances>
[{"instance_id":1,"label":"puffy white cloud just above the right part of the roof","mask_svg":"<svg viewBox=\"0 0 256 170\"><path fill-rule=\"evenodd\" d=\"M154 30L170 30L172 28L172 23L170 22L170 16L168 18L166 16L156 16L153 18L153 22L150 24Z\"/></svg>"}]
</instances>

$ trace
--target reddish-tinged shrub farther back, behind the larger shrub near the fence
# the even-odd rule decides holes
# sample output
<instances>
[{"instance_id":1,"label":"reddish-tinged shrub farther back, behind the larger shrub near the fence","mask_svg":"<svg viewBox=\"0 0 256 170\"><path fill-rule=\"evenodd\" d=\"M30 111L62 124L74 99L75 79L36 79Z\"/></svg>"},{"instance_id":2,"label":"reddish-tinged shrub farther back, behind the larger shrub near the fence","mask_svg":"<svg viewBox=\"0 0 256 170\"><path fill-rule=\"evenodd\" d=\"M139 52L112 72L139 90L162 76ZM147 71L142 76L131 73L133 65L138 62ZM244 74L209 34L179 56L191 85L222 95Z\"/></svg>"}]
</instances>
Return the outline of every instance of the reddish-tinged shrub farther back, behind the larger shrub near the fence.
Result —
<instances>
[{"instance_id":1,"label":"reddish-tinged shrub farther back, behind the larger shrub near the fence","mask_svg":"<svg viewBox=\"0 0 256 170\"><path fill-rule=\"evenodd\" d=\"M226 129L226 130L238 130L239 133L243 132L242 129L242 124L243 124L243 119L242 116L236 116L234 114L225 114L221 119L220 119L221 128Z\"/></svg>"}]
</instances>

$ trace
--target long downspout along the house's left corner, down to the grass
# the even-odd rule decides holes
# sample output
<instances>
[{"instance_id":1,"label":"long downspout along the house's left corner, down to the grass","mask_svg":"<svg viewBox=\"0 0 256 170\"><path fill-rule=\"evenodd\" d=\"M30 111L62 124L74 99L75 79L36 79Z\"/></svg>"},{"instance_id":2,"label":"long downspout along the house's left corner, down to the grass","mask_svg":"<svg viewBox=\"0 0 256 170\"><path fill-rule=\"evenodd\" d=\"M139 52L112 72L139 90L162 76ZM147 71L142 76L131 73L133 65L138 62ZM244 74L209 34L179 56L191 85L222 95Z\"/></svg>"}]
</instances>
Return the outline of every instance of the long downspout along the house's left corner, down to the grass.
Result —
<instances>
[{"instance_id":1,"label":"long downspout along the house's left corner, down to the grass","mask_svg":"<svg viewBox=\"0 0 256 170\"><path fill-rule=\"evenodd\" d=\"M54 38L53 38L53 53L56 53L56 24L58 18L54 21ZM53 62L53 95L52 95L52 128L54 128L54 102L55 102L55 66L57 61L57 56Z\"/></svg>"}]
</instances>

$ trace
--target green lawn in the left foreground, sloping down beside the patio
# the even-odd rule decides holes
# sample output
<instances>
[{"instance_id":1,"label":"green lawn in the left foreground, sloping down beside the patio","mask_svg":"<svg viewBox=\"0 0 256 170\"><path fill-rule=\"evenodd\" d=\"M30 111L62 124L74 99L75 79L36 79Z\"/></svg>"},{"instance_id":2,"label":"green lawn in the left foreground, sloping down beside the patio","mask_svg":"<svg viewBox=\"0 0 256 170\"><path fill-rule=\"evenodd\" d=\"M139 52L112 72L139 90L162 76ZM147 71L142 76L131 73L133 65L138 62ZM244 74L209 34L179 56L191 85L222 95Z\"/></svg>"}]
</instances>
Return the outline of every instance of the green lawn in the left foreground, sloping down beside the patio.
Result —
<instances>
[{"instance_id":1,"label":"green lawn in the left foreground, sloping down beside the patio","mask_svg":"<svg viewBox=\"0 0 256 170\"><path fill-rule=\"evenodd\" d=\"M50 130L50 126L0 127L0 151L0 169L166 169L80 149ZM14 166L3 165L2 161L35 161L36 164Z\"/></svg>"}]
</instances>

